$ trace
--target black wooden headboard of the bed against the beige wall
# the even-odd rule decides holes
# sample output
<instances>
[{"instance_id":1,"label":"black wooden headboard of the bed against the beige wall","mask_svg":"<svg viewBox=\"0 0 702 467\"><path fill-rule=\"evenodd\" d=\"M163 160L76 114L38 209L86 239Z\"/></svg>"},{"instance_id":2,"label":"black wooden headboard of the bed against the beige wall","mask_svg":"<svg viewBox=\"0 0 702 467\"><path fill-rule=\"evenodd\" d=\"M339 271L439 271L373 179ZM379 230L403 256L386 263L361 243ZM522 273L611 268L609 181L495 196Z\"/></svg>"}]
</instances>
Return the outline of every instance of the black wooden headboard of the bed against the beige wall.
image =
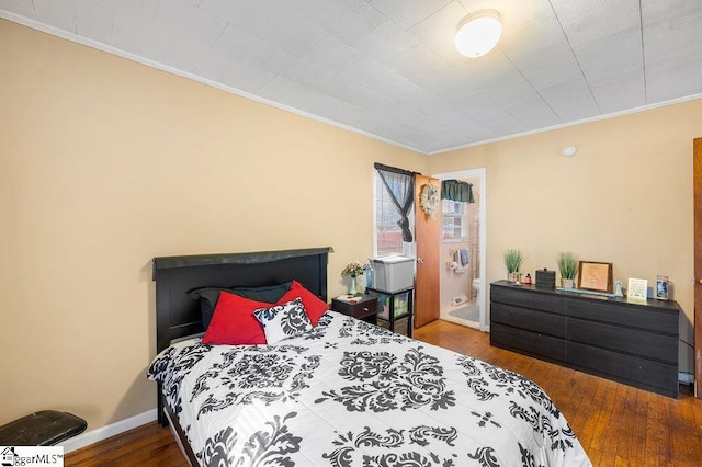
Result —
<instances>
[{"instance_id":1,"label":"black wooden headboard of the bed against the beige wall","mask_svg":"<svg viewBox=\"0 0 702 467\"><path fill-rule=\"evenodd\" d=\"M326 248L154 258L156 351L174 339L203 332L200 304L188 293L200 287L252 287L295 280L327 301Z\"/></svg>"}]
</instances>

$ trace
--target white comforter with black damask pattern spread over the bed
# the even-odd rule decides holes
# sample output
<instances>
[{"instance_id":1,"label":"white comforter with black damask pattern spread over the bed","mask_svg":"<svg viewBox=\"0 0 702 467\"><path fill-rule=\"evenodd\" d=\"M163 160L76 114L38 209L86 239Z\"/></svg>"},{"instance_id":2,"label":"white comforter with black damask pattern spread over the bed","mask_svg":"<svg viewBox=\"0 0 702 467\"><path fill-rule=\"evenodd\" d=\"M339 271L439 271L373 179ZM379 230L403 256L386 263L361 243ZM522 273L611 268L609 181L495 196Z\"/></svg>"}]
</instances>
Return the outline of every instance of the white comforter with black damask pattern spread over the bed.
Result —
<instances>
[{"instance_id":1,"label":"white comforter with black damask pattern spread over the bed","mask_svg":"<svg viewBox=\"0 0 702 467\"><path fill-rule=\"evenodd\" d=\"M148 377L203 466L587 466L516 373L329 311L275 345L171 346Z\"/></svg>"}]
</instances>

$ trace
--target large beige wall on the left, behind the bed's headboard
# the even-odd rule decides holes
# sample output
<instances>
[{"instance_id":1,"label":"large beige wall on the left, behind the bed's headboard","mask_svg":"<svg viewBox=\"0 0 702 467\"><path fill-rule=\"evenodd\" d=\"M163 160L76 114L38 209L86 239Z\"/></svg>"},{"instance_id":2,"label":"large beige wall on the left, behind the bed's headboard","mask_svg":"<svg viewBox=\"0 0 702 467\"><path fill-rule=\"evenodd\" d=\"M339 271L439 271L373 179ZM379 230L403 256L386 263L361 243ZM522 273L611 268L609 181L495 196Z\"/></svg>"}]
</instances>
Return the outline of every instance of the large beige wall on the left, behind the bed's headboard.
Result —
<instances>
[{"instance_id":1,"label":"large beige wall on the left, behind the bed's headboard","mask_svg":"<svg viewBox=\"0 0 702 467\"><path fill-rule=\"evenodd\" d=\"M0 59L0 424L156 407L152 257L331 246L341 294L373 162L428 164L3 20Z\"/></svg>"}]
</instances>

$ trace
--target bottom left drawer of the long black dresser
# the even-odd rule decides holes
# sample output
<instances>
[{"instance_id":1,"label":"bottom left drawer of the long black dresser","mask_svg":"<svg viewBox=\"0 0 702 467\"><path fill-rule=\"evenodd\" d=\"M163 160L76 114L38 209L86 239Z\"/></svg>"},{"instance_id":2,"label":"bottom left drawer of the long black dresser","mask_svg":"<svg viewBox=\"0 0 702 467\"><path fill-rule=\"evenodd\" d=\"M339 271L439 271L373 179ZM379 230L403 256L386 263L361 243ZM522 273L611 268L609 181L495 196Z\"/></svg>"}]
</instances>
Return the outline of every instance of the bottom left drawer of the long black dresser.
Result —
<instances>
[{"instance_id":1,"label":"bottom left drawer of the long black dresser","mask_svg":"<svg viewBox=\"0 0 702 467\"><path fill-rule=\"evenodd\" d=\"M553 360L566 358L565 340L496 322L490 324L490 344Z\"/></svg>"}]
</instances>

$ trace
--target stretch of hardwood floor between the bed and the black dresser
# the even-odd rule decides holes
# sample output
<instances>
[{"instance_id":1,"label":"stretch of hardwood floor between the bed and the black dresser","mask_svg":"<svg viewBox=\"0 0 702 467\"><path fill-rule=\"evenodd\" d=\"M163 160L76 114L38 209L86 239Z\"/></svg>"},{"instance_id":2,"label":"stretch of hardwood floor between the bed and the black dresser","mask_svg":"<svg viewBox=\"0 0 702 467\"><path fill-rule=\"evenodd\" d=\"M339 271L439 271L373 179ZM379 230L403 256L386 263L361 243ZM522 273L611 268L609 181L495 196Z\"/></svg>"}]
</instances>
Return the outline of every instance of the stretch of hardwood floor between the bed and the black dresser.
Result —
<instances>
[{"instance_id":1,"label":"stretch of hardwood floor between the bed and the black dresser","mask_svg":"<svg viewBox=\"0 0 702 467\"><path fill-rule=\"evenodd\" d=\"M489 334L434 321L415 338L520 373L565 414L595 466L702 465L702 399L679 400L489 345Z\"/></svg>"}]
</instances>

